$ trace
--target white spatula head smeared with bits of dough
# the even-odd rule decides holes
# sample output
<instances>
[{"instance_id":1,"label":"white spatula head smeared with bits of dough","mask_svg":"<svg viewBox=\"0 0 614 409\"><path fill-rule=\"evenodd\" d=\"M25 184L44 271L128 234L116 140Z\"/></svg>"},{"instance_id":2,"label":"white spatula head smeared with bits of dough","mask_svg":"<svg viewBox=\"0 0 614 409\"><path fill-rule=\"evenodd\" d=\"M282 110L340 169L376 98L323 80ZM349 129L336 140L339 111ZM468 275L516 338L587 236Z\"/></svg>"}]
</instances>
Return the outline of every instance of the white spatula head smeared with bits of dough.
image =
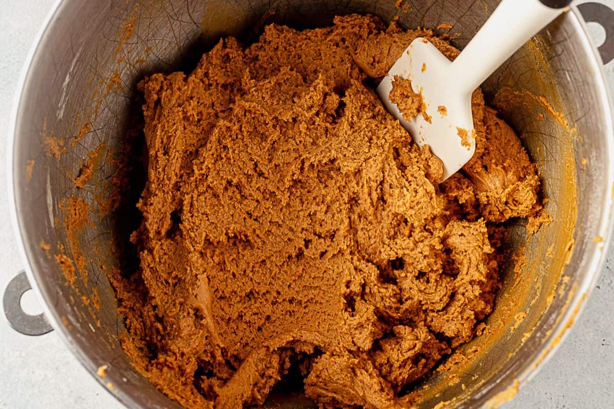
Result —
<instances>
[{"instance_id":1,"label":"white spatula head smeared with bits of dough","mask_svg":"<svg viewBox=\"0 0 614 409\"><path fill-rule=\"evenodd\" d=\"M475 152L471 92L465 90L463 73L453 71L449 59L429 40L419 37L397 59L377 89L386 109L414 141L420 146L429 145L441 159L444 180L461 169ZM397 104L389 99L396 76L410 80L413 91L422 95L426 115L410 121L403 118Z\"/></svg>"}]
</instances>

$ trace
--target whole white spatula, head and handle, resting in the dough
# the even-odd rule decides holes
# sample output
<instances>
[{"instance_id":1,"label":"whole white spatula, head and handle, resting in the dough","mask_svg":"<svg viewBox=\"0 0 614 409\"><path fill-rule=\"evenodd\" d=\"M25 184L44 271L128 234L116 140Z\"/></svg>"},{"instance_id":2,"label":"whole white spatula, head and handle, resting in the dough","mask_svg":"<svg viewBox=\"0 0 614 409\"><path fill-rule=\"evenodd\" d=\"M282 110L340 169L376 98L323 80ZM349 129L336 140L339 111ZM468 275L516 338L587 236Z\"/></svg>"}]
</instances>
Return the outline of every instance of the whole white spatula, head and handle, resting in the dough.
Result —
<instances>
[{"instance_id":1,"label":"whole white spatula, head and handle, resting in the dough","mask_svg":"<svg viewBox=\"0 0 614 409\"><path fill-rule=\"evenodd\" d=\"M502 0L453 62L420 37L411 42L379 84L377 92L386 109L418 145L429 145L443 161L444 180L461 169L475 151L473 91L527 40L564 12L570 2ZM418 115L406 121L390 101L392 82L397 75L411 80L413 91L422 94L427 118ZM465 132L468 137L463 140Z\"/></svg>"}]
</instances>

